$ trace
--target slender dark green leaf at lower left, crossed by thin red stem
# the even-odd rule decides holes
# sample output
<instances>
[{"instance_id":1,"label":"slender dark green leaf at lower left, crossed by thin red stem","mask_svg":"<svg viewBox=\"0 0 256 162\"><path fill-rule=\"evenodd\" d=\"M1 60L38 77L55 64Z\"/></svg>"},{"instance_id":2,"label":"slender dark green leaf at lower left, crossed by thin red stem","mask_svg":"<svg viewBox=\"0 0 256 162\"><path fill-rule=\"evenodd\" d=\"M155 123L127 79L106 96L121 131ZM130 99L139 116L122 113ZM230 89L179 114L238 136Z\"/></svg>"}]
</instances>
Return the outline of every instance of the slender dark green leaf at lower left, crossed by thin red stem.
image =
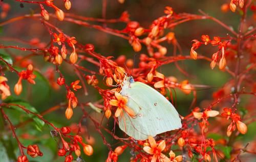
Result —
<instances>
[{"instance_id":1,"label":"slender dark green leaf at lower left, crossed by thin red stem","mask_svg":"<svg viewBox=\"0 0 256 162\"><path fill-rule=\"evenodd\" d=\"M39 114L37 112L37 110L35 109L35 107L33 107L32 105L30 105L28 102L26 101L23 101L23 100L20 100L20 99L16 99L14 97L8 97L4 100L5 103L13 103L13 104L18 104L18 105L21 105L21 106L24 106L26 107L26 109L28 109L29 111L33 112L33 113L36 113L36 114ZM25 112L23 109L21 109L20 107L18 106L15 106L15 105L11 105L10 106L11 108L17 110L17 111L20 111L20 112ZM29 118L32 118L34 121L35 121L35 127L41 131L41 128L45 125L45 122L42 121L41 119L39 119L38 117L36 117L35 115L33 114L28 114L28 117Z\"/></svg>"}]
</instances>

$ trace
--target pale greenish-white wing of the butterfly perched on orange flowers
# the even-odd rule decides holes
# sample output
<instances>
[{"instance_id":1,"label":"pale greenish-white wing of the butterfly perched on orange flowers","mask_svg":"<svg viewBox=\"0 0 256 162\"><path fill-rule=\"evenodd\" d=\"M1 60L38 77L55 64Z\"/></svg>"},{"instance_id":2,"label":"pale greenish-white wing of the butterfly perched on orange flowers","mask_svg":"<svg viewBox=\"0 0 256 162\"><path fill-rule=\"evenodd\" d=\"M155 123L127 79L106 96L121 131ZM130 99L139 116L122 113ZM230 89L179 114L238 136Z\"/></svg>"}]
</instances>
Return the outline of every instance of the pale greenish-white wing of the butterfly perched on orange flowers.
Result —
<instances>
[{"instance_id":1,"label":"pale greenish-white wing of the butterfly perched on orange flowers","mask_svg":"<svg viewBox=\"0 0 256 162\"><path fill-rule=\"evenodd\" d=\"M181 119L175 107L162 94L141 82L125 83L121 94L127 96L127 106L135 111L136 118L123 113L119 127L136 140L181 128Z\"/></svg>"}]
</instances>

